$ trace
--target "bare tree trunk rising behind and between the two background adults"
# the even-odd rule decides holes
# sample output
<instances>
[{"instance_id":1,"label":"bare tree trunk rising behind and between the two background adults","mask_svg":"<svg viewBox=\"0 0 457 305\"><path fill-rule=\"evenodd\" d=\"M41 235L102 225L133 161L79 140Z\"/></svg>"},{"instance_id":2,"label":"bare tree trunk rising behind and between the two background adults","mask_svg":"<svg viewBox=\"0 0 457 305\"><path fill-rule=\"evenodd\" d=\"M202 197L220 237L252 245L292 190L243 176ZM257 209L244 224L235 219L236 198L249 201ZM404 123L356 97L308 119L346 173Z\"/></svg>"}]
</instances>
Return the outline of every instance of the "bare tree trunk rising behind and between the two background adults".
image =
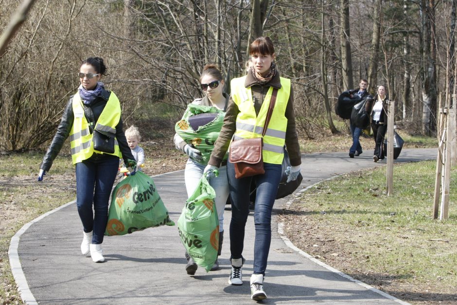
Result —
<instances>
[{"instance_id":1,"label":"bare tree trunk rising behind and between the two background adults","mask_svg":"<svg viewBox=\"0 0 457 305\"><path fill-rule=\"evenodd\" d=\"M369 66L368 66L368 92L374 93L378 82L378 59L379 59L379 39L381 36L381 5L382 0L374 1L373 9L373 32L371 34L371 45L369 51Z\"/></svg>"}]
</instances>

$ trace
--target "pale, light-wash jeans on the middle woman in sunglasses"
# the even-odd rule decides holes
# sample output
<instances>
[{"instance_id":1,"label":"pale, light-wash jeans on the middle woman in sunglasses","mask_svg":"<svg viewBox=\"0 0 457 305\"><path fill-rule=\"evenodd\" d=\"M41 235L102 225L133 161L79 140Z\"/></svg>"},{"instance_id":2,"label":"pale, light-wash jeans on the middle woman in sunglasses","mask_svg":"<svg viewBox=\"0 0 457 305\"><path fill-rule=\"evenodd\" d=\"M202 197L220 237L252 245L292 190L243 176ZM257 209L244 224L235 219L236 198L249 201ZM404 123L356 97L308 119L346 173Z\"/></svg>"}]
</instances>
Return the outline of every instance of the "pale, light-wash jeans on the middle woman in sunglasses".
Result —
<instances>
[{"instance_id":1,"label":"pale, light-wash jeans on the middle woman in sunglasses","mask_svg":"<svg viewBox=\"0 0 457 305\"><path fill-rule=\"evenodd\" d=\"M193 162L192 159L187 161L186 170L184 171L187 197L190 197L195 191L198 182L203 176L205 167L205 165ZM219 232L222 232L224 231L224 208L227 198L229 198L229 182L227 180L227 166L221 166L218 170L219 175L216 178L211 178L209 182L216 193L214 202L216 203L217 217L219 218Z\"/></svg>"}]
</instances>

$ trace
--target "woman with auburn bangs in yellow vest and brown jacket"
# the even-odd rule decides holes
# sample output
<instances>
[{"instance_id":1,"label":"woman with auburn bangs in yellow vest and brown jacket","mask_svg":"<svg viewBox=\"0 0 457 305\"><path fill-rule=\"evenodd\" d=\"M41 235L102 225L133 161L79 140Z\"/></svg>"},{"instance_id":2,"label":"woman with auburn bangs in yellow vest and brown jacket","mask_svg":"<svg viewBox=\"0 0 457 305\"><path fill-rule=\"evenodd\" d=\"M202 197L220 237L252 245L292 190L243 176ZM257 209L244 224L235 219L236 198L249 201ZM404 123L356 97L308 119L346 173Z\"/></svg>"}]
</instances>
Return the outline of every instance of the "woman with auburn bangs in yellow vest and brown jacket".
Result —
<instances>
[{"instance_id":1,"label":"woman with auburn bangs in yellow vest and brown jacket","mask_svg":"<svg viewBox=\"0 0 457 305\"><path fill-rule=\"evenodd\" d=\"M249 190L254 179L257 194L254 209L255 244L254 268L250 279L251 298L266 298L263 282L271 242L271 211L281 180L283 146L290 155L291 168L288 180L297 179L300 172L301 156L297 132L295 130L294 98L289 79L280 77L275 67L275 50L269 37L259 37L249 46L252 68L246 76L230 82L231 95L224 125L216 140L214 150L205 173L218 168L229 149L232 137L258 137L262 134L265 116L273 88L278 89L276 104L263 138L263 161L265 173L252 177L235 178L234 165L227 163L230 198L232 203L230 221L230 261L229 283L242 285L241 268L245 262L243 246L245 225L249 213Z\"/></svg>"}]
</instances>

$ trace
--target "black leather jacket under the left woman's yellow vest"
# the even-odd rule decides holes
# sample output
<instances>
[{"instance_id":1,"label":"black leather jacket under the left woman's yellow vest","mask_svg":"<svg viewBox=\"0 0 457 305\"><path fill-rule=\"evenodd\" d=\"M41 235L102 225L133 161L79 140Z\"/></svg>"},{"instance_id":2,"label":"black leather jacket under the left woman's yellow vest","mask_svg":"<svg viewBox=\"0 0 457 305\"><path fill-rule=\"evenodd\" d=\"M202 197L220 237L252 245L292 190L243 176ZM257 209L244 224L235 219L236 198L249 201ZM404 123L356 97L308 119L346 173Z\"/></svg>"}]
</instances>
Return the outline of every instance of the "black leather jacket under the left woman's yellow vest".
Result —
<instances>
[{"instance_id":1,"label":"black leather jacket under the left woman's yellow vest","mask_svg":"<svg viewBox=\"0 0 457 305\"><path fill-rule=\"evenodd\" d=\"M93 102L90 106L92 112L94 114L94 122L98 120L100 115L102 114L103 109L105 109L106 102L109 99L111 91L103 90L102 94ZM51 166L53 165L53 161L57 154L62 149L65 140L70 135L71 127L73 126L74 114L73 114L73 96L70 97L70 100L67 103L67 107L62 115L62 119L60 120L60 124L57 127L57 132L51 142L51 145L48 148L48 151L43 157L43 162L41 163L40 169L49 171ZM86 107L86 106L84 106ZM87 119L87 116L86 116ZM123 132L123 122L122 118L119 120L119 123L116 126L116 139L119 144L119 149L122 153L122 157L124 163L128 163L128 159L135 161L135 157L132 155L132 151L130 147L128 147L127 139L125 138ZM99 154L97 154L99 155ZM113 157L110 154L103 154L104 157Z\"/></svg>"}]
</instances>

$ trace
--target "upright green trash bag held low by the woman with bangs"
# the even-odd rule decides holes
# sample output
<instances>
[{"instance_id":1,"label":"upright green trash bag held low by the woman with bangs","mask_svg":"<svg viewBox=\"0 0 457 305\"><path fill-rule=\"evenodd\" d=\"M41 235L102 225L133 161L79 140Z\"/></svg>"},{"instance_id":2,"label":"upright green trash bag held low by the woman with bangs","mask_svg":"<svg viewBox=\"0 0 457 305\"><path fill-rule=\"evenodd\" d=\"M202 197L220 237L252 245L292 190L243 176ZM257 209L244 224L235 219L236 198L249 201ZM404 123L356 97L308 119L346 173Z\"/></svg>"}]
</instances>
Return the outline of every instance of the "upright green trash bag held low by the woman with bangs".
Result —
<instances>
[{"instance_id":1,"label":"upright green trash bag held low by the woman with bangs","mask_svg":"<svg viewBox=\"0 0 457 305\"><path fill-rule=\"evenodd\" d=\"M214 189L202 176L193 195L186 201L178 220L181 242L197 265L208 272L219 250L219 220Z\"/></svg>"}]
</instances>

